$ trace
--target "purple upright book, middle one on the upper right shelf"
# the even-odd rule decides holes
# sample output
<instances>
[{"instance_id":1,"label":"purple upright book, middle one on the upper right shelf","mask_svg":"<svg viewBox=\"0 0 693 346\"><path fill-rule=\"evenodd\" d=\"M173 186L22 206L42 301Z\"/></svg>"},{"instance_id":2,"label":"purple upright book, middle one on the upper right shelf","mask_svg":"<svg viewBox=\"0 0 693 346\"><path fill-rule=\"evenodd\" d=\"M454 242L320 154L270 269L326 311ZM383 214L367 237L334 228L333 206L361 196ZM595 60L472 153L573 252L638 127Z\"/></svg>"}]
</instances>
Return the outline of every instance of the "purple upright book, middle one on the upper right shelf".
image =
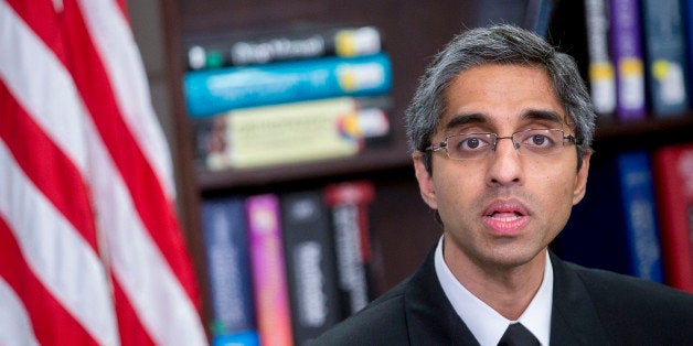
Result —
<instances>
[{"instance_id":1,"label":"purple upright book, middle one on the upper right shelf","mask_svg":"<svg viewBox=\"0 0 693 346\"><path fill-rule=\"evenodd\" d=\"M616 66L616 116L625 121L643 119L648 98L640 0L610 0L609 4L609 43Z\"/></svg>"}]
</instances>

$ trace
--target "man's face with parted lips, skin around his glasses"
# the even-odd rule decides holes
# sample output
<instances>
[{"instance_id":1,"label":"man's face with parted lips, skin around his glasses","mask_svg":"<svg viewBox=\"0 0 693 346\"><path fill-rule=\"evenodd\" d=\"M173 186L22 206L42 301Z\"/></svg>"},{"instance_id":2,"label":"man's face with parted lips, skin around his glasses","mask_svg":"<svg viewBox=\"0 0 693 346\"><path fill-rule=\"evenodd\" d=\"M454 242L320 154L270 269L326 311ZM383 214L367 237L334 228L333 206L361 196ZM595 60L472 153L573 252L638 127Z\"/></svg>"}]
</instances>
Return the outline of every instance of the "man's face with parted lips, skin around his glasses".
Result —
<instances>
[{"instance_id":1,"label":"man's face with parted lips, skin around his glasses","mask_svg":"<svg viewBox=\"0 0 693 346\"><path fill-rule=\"evenodd\" d=\"M446 98L433 143L460 132L508 137L562 129L575 134L548 75L539 68L473 67L452 79ZM473 161L450 160L441 150L433 153L431 174L414 160L422 196L444 224L448 264L503 270L540 258L585 194L589 154L577 171L575 147L565 145L554 155L527 156L501 139L495 152Z\"/></svg>"}]
</instances>

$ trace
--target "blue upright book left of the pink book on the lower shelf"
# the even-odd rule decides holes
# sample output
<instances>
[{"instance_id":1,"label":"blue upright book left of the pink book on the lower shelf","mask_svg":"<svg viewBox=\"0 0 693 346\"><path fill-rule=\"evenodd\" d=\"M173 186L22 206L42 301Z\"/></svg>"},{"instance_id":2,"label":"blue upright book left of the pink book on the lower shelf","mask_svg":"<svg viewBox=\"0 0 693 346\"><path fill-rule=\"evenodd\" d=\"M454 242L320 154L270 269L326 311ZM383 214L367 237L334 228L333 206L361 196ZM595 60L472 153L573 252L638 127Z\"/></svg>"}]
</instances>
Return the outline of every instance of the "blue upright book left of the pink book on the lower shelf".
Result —
<instances>
[{"instance_id":1,"label":"blue upright book left of the pink book on the lower shelf","mask_svg":"<svg viewBox=\"0 0 693 346\"><path fill-rule=\"evenodd\" d=\"M242 197L203 199L212 336L255 333L250 261Z\"/></svg>"}]
</instances>

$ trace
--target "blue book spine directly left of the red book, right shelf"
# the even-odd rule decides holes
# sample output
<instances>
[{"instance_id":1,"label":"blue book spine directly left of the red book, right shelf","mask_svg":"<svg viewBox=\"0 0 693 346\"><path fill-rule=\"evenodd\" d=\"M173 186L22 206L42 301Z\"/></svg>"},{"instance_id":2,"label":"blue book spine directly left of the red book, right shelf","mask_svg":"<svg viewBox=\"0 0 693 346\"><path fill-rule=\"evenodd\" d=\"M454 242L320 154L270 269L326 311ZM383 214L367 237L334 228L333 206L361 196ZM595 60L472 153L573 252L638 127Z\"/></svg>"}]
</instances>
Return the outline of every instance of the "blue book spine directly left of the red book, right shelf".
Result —
<instances>
[{"instance_id":1,"label":"blue book spine directly left of the red book, right shelf","mask_svg":"<svg viewBox=\"0 0 693 346\"><path fill-rule=\"evenodd\" d=\"M646 151L621 153L618 170L631 272L664 283L650 154Z\"/></svg>"}]
</instances>

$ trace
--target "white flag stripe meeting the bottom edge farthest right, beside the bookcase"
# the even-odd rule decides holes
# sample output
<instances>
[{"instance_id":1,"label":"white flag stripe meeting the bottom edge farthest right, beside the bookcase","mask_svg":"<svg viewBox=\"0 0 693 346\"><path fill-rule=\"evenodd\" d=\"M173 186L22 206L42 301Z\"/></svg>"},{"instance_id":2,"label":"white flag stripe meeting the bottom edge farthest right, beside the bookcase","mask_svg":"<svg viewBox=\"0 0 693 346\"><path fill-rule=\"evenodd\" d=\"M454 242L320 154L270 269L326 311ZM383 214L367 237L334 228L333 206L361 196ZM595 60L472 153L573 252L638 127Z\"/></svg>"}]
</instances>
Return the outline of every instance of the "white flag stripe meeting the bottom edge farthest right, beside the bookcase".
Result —
<instances>
[{"instance_id":1,"label":"white flag stripe meeting the bottom edge farthest right, beside the bookcase","mask_svg":"<svg viewBox=\"0 0 693 346\"><path fill-rule=\"evenodd\" d=\"M157 344L206 344L195 307L134 209L103 142L93 150L96 209L108 210L98 213L97 225L117 281Z\"/></svg>"}]
</instances>

